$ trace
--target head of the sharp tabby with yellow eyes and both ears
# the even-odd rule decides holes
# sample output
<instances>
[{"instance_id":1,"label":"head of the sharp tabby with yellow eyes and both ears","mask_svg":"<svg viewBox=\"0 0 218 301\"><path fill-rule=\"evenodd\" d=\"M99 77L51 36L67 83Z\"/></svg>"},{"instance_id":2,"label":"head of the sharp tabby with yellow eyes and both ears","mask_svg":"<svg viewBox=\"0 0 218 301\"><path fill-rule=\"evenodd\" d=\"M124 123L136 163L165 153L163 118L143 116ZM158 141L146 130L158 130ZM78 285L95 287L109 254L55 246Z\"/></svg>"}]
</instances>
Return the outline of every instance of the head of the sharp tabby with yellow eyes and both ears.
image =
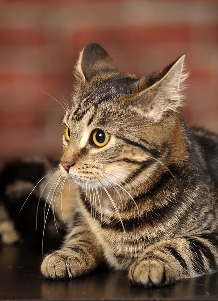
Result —
<instances>
[{"instance_id":1,"label":"head of the sharp tabby with yellow eyes and both ears","mask_svg":"<svg viewBox=\"0 0 218 301\"><path fill-rule=\"evenodd\" d=\"M179 160L184 57L137 78L121 72L100 45L86 45L72 107L63 118L63 175L84 188L133 179L137 185L141 171L149 181L151 173Z\"/></svg>"}]
</instances>

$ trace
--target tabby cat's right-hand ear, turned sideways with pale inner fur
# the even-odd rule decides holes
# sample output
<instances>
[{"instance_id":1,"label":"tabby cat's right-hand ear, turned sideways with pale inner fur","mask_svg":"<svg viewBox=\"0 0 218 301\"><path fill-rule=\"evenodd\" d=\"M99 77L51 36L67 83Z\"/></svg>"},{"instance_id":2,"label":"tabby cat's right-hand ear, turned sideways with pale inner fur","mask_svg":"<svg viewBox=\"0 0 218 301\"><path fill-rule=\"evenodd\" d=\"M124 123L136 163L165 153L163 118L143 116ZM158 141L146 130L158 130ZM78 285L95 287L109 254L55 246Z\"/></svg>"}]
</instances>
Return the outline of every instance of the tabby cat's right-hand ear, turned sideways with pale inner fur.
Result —
<instances>
[{"instance_id":1,"label":"tabby cat's right-hand ear, turned sideways with pale inner fur","mask_svg":"<svg viewBox=\"0 0 218 301\"><path fill-rule=\"evenodd\" d=\"M136 93L133 108L153 122L162 119L167 111L178 111L183 102L185 54L160 72L142 77L133 87Z\"/></svg>"}]
</instances>

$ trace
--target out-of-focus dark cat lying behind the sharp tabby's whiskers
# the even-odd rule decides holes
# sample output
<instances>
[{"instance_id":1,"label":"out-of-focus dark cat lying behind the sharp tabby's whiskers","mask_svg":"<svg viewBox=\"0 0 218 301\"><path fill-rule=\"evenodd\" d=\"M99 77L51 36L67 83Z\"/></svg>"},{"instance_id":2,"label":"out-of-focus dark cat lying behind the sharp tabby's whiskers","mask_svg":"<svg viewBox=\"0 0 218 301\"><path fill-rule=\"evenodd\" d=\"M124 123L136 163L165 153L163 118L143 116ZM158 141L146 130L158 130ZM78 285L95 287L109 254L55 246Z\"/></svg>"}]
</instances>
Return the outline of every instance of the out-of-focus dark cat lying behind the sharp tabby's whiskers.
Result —
<instances>
[{"instance_id":1,"label":"out-of-focus dark cat lying behind the sharp tabby's whiskers","mask_svg":"<svg viewBox=\"0 0 218 301\"><path fill-rule=\"evenodd\" d=\"M56 162L51 164L48 160L15 160L1 170L0 235L4 244L24 243L41 248L43 236L47 248L61 242L65 223L71 220L69 198L74 194L69 195L68 185L61 187L63 181L54 185L61 174ZM64 201L60 200L62 197Z\"/></svg>"}]
</instances>

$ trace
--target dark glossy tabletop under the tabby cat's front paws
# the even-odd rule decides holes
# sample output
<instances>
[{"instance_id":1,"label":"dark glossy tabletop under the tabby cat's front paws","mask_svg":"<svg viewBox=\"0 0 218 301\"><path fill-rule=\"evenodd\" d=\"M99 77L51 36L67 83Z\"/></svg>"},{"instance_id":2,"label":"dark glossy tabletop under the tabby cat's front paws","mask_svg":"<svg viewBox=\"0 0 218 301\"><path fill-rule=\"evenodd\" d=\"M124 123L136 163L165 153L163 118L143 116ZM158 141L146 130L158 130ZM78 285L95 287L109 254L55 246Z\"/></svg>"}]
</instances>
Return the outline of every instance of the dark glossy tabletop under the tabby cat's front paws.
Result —
<instances>
[{"instance_id":1,"label":"dark glossy tabletop under the tabby cat's front paws","mask_svg":"<svg viewBox=\"0 0 218 301\"><path fill-rule=\"evenodd\" d=\"M218 273L172 286L132 287L127 273L105 268L73 280L40 274L40 251L0 245L0 300L218 300Z\"/></svg>"}]
</instances>

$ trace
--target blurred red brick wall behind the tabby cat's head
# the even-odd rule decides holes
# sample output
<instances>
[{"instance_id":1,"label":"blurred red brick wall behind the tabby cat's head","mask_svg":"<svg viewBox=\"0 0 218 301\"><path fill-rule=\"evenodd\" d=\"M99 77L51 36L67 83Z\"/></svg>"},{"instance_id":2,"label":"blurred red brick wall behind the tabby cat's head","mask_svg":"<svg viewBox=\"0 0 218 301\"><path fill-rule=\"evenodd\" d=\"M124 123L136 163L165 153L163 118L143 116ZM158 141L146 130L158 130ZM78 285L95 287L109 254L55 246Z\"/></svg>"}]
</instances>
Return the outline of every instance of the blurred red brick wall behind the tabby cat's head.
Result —
<instances>
[{"instance_id":1,"label":"blurred red brick wall behind the tabby cat's head","mask_svg":"<svg viewBox=\"0 0 218 301\"><path fill-rule=\"evenodd\" d=\"M53 98L70 103L73 66L89 41L138 76L186 52L185 119L218 133L218 1L0 0L1 162L60 157L64 110Z\"/></svg>"}]
</instances>

